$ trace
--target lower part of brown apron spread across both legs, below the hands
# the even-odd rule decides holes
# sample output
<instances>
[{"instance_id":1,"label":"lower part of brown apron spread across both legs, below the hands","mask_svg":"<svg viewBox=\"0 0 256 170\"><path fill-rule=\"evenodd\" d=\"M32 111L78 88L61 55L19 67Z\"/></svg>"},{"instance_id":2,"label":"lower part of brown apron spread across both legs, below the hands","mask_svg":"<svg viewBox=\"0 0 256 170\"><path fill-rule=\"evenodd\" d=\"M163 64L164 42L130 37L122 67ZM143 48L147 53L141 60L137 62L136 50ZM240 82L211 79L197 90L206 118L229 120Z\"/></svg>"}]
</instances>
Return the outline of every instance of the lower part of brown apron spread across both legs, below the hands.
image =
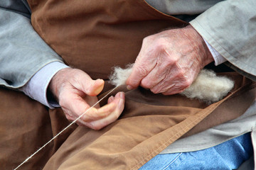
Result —
<instances>
[{"instance_id":1,"label":"lower part of brown apron spread across both legs, below the hands","mask_svg":"<svg viewBox=\"0 0 256 170\"><path fill-rule=\"evenodd\" d=\"M255 98L252 87L243 86L210 106L179 95L127 91L124 113L115 123L100 131L73 126L21 169L40 169L46 162L44 169L138 169L191 128L188 134L241 115ZM68 122L61 109L48 111L16 91L1 89L0 94L0 164L14 169Z\"/></svg>"}]
</instances>

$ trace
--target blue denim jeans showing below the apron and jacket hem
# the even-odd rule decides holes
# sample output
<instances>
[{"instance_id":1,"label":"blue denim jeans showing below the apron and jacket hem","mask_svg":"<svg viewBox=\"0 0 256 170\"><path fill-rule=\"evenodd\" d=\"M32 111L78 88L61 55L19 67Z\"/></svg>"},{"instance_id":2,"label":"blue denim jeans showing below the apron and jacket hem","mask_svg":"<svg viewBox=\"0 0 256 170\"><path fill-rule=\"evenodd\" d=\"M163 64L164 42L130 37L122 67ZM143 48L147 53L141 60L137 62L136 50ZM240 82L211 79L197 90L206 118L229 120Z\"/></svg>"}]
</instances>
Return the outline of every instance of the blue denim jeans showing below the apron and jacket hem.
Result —
<instances>
[{"instance_id":1,"label":"blue denim jeans showing below the apron and jacket hem","mask_svg":"<svg viewBox=\"0 0 256 170\"><path fill-rule=\"evenodd\" d=\"M238 169L252 156L250 133L235 137L215 147L196 152L158 154L139 170L144 169Z\"/></svg>"}]
</instances>

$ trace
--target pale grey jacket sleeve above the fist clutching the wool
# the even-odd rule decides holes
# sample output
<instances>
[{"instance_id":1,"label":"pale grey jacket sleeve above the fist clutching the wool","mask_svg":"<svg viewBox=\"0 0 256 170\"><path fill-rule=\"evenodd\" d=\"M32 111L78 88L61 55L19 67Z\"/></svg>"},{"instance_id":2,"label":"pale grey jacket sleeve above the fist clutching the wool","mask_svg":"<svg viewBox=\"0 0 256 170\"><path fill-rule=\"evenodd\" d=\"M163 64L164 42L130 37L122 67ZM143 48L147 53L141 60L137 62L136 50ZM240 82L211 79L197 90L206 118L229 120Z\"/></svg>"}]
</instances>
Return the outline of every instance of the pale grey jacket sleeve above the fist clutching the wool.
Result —
<instances>
[{"instance_id":1,"label":"pale grey jacket sleeve above the fist clutching the wool","mask_svg":"<svg viewBox=\"0 0 256 170\"><path fill-rule=\"evenodd\" d=\"M191 21L228 66L256 81L256 1L222 1Z\"/></svg>"}]
</instances>

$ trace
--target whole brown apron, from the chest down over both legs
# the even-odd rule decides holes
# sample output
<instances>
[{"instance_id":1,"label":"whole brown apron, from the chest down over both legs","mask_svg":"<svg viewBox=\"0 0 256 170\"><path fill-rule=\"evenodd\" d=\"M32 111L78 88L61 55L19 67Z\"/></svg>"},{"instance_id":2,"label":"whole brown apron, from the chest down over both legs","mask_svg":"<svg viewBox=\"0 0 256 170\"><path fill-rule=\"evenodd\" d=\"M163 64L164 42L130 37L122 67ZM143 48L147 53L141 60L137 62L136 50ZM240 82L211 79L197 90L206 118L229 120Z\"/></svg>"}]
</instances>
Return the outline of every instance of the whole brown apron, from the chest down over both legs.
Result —
<instances>
[{"instance_id":1,"label":"whole brown apron, from the chest down over both legs","mask_svg":"<svg viewBox=\"0 0 256 170\"><path fill-rule=\"evenodd\" d=\"M82 69L93 79L107 80L114 65L124 67L134 62L147 35L186 26L143 0L28 3L32 25L43 40L67 64ZM139 169L178 138L232 120L246 111L255 100L255 84L235 72L222 74L235 80L235 88L210 106L180 95L151 94L142 88L126 91L120 86L114 93L126 91L126 103L119 120L99 131L73 126L21 169ZM107 86L105 91L109 89ZM0 111L8 115L0 120L4 137L0 144L6 148L0 164L11 169L68 121L60 108L48 111L16 91L0 89L0 93L4 98Z\"/></svg>"}]
</instances>

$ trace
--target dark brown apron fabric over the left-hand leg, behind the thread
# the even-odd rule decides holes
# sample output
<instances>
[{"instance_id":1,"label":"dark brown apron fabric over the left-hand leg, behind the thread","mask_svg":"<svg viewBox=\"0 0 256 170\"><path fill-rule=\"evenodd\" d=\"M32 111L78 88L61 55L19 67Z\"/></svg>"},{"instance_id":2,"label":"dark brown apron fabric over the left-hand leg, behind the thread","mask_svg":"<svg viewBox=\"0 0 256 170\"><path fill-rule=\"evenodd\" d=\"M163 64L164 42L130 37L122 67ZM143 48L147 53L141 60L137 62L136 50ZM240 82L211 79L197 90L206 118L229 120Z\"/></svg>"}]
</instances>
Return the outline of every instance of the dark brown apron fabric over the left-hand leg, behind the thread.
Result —
<instances>
[{"instance_id":1,"label":"dark brown apron fabric over the left-hand leg, behind the thread","mask_svg":"<svg viewBox=\"0 0 256 170\"><path fill-rule=\"evenodd\" d=\"M49 111L18 91L0 88L0 169L14 169L68 125L63 113ZM41 169L68 137L72 127L21 169Z\"/></svg>"}]
</instances>

